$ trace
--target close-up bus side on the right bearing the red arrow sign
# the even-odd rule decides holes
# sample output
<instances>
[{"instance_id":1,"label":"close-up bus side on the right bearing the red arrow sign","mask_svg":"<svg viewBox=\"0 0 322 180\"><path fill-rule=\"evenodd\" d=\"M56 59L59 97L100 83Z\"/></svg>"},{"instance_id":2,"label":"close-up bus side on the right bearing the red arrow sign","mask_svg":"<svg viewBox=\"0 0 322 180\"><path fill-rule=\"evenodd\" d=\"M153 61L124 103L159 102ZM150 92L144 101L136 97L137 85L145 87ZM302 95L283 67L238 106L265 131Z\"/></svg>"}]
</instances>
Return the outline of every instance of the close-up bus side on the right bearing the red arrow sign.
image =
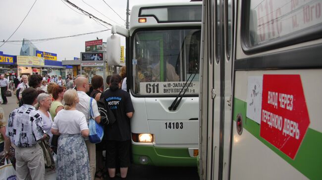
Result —
<instances>
[{"instance_id":1,"label":"close-up bus side on the right bearing the red arrow sign","mask_svg":"<svg viewBox=\"0 0 322 180\"><path fill-rule=\"evenodd\" d=\"M322 179L321 9L203 1L200 179Z\"/></svg>"}]
</instances>

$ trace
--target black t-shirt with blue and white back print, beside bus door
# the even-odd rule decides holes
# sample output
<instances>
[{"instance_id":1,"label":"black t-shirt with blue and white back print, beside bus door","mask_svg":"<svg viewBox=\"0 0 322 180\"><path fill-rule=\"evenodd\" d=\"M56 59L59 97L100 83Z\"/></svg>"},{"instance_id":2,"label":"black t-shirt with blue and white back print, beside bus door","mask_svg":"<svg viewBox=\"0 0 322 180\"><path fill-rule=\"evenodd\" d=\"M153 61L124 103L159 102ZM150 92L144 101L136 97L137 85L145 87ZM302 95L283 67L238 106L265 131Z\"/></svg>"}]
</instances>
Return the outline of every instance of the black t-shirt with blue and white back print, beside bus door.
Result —
<instances>
[{"instance_id":1,"label":"black t-shirt with blue and white back print, beside bus door","mask_svg":"<svg viewBox=\"0 0 322 180\"><path fill-rule=\"evenodd\" d=\"M103 92L101 98L104 98L116 118L115 123L107 127L107 140L131 140L130 119L126 116L127 112L134 112L130 94L121 89L108 89Z\"/></svg>"}]
</instances>

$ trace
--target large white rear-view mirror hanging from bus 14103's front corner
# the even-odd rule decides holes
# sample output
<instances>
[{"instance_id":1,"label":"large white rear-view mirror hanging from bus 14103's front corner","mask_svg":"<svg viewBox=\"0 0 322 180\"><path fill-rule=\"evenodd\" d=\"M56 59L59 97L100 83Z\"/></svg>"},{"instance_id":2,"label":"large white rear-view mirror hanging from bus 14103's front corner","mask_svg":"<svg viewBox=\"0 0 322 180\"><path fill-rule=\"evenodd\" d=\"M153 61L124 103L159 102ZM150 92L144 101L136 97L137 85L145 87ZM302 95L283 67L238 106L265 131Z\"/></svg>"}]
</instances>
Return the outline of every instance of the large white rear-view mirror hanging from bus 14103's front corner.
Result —
<instances>
[{"instance_id":1,"label":"large white rear-view mirror hanging from bus 14103's front corner","mask_svg":"<svg viewBox=\"0 0 322 180\"><path fill-rule=\"evenodd\" d=\"M107 37L107 65L118 66L120 64L121 57L121 42L120 37L117 35L111 35Z\"/></svg>"}]
</instances>

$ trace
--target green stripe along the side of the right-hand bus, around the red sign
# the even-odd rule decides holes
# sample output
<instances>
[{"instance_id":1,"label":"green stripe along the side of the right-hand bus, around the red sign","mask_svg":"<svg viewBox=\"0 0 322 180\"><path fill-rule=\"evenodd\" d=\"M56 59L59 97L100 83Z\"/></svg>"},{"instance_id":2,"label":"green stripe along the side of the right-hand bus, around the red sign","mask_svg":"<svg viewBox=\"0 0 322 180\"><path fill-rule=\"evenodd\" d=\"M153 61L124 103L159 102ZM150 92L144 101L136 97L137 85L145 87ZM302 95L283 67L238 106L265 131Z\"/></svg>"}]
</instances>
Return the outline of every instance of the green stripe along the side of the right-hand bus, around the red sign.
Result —
<instances>
[{"instance_id":1,"label":"green stripe along the side of the right-hand bus, around the red sign","mask_svg":"<svg viewBox=\"0 0 322 180\"><path fill-rule=\"evenodd\" d=\"M313 129L308 129L303 142L294 158L291 159L272 144L268 143L260 136L260 124L250 118L246 118L247 103L234 98L234 121L237 114L241 113L243 127L263 144L268 146L277 155L292 165L295 169L311 180L321 180L322 178L322 133Z\"/></svg>"}]
</instances>

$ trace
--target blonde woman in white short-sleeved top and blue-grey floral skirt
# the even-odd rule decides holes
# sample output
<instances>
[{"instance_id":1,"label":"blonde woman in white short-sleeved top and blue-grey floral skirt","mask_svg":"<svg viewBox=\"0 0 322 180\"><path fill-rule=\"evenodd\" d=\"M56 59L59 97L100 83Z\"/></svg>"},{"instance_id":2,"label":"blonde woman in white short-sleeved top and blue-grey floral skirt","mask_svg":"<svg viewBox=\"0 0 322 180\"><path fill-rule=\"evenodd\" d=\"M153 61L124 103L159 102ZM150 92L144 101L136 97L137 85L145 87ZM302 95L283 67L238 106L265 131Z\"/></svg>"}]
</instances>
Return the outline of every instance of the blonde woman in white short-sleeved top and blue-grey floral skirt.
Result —
<instances>
[{"instance_id":1,"label":"blonde woman in white short-sleeved top and blue-grey floral skirt","mask_svg":"<svg viewBox=\"0 0 322 180\"><path fill-rule=\"evenodd\" d=\"M57 148L57 180L90 180L87 148L83 137L89 129L84 113L76 110L76 90L64 93L65 107L54 118L52 133L60 135Z\"/></svg>"}]
</instances>

